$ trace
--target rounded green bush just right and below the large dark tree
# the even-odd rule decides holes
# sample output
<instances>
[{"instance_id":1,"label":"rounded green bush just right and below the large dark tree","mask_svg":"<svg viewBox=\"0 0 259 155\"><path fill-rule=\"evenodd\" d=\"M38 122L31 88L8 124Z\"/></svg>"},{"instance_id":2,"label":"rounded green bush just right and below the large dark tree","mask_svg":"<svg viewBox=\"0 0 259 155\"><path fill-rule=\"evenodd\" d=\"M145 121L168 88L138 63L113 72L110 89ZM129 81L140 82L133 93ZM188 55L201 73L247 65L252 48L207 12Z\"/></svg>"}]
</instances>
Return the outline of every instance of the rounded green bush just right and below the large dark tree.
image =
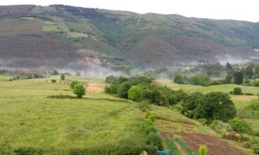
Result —
<instances>
[{"instance_id":1,"label":"rounded green bush just right and below the large dark tree","mask_svg":"<svg viewBox=\"0 0 259 155\"><path fill-rule=\"evenodd\" d=\"M229 121L229 125L231 127L231 130L238 133L249 133L251 132L251 127L247 121L244 121L239 118L234 118L231 121Z\"/></svg>"}]
</instances>

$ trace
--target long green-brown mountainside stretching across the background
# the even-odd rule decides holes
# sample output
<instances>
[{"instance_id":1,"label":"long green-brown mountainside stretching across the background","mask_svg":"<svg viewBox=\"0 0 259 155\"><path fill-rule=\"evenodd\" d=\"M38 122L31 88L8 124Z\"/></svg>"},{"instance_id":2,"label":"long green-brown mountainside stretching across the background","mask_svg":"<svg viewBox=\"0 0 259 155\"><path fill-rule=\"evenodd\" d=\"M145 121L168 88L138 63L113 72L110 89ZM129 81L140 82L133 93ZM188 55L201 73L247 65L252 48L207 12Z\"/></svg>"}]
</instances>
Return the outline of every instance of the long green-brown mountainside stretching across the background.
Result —
<instances>
[{"instance_id":1,"label":"long green-brown mountainside stretching across the background","mask_svg":"<svg viewBox=\"0 0 259 155\"><path fill-rule=\"evenodd\" d=\"M0 6L0 67L241 63L258 60L254 49L259 49L259 23L248 21L62 5Z\"/></svg>"}]
</instances>

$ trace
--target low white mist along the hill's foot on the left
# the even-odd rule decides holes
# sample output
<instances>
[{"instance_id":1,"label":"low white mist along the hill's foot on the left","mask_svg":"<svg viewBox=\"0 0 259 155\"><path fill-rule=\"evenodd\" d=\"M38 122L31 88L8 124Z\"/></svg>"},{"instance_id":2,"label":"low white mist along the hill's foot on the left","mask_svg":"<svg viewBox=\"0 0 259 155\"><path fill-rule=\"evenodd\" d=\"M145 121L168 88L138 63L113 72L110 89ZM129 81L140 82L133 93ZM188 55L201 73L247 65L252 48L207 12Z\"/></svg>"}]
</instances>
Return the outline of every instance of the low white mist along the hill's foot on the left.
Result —
<instances>
[{"instance_id":1,"label":"low white mist along the hill's foot on the left","mask_svg":"<svg viewBox=\"0 0 259 155\"><path fill-rule=\"evenodd\" d=\"M38 61L38 63L34 63L28 66L28 61L32 63L33 61ZM108 75L120 76L122 75L121 70L114 70L110 66L102 66L96 65L95 63L91 63L89 61L76 61L67 63L64 66L55 65L53 61L57 61L56 59L44 61L44 65L42 65L41 60L28 60L28 59L0 59L0 69L8 70L10 74L23 74L24 72L41 72L44 76L48 76L48 72L52 70L57 70L60 73L69 73L75 75L76 73L80 73L81 76L87 77L106 77ZM3 74L3 73L2 73Z\"/></svg>"}]
</instances>

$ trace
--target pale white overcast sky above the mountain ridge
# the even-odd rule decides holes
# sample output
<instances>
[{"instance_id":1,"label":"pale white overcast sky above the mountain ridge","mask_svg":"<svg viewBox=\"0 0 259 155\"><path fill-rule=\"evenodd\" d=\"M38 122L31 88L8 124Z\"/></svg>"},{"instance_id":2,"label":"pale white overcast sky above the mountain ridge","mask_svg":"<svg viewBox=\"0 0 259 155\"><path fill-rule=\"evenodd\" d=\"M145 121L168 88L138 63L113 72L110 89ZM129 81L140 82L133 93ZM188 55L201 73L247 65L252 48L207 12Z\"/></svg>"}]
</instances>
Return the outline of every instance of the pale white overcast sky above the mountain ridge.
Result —
<instances>
[{"instance_id":1,"label":"pale white overcast sky above the mountain ridge","mask_svg":"<svg viewBox=\"0 0 259 155\"><path fill-rule=\"evenodd\" d=\"M259 21L259 0L1 0L0 5L65 4L138 13L181 14L186 17Z\"/></svg>"}]
</instances>

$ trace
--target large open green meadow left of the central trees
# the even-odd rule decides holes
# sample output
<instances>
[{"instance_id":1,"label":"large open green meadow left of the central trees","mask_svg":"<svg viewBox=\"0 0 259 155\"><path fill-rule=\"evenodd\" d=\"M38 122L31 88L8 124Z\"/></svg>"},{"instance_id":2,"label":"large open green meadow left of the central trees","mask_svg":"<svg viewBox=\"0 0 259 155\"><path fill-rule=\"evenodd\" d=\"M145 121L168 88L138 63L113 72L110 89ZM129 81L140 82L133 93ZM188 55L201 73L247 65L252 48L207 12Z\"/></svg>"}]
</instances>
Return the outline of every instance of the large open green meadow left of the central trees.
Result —
<instances>
[{"instance_id":1,"label":"large open green meadow left of the central trees","mask_svg":"<svg viewBox=\"0 0 259 155\"><path fill-rule=\"evenodd\" d=\"M52 76L50 79L58 79ZM0 79L6 79L1 76ZM84 82L102 82L68 76ZM0 82L0 137L14 148L86 148L144 138L141 111L131 102L104 93L84 99L48 99L73 95L67 83L46 79Z\"/></svg>"}]
</instances>

